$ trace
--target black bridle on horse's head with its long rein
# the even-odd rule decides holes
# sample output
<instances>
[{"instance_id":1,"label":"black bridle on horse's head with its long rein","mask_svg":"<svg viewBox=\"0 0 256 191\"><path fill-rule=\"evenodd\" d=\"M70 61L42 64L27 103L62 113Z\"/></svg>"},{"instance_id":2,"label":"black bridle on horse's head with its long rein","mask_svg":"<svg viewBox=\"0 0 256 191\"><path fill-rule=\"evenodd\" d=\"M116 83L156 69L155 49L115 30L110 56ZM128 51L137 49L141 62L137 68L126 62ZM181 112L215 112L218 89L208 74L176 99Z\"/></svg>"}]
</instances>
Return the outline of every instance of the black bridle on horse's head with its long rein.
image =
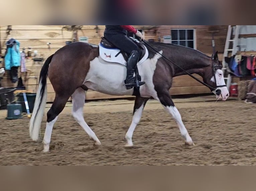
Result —
<instances>
[{"instance_id":1,"label":"black bridle on horse's head with its long rein","mask_svg":"<svg viewBox=\"0 0 256 191\"><path fill-rule=\"evenodd\" d=\"M157 50L155 50L152 46L150 46L147 42L145 42L145 40L142 40L147 46L149 46L151 49L153 49L156 53L160 54ZM188 76L190 76L191 78L194 78L196 81L198 81L199 83L203 84L204 86L208 87L215 95L221 95L221 90L218 88L221 87L226 87L227 85L220 85L217 86L217 81L216 81L216 71L218 69L222 69L222 65L214 65L214 59L212 58L212 72L213 72L213 76L214 76L214 80L215 80L215 84L216 84L216 88L198 80L196 77L194 77L193 75L191 75L190 73L188 73L187 71L185 71L183 68L181 68L180 66L176 65L174 62L172 62L171 60L169 60L168 58L166 58L165 56L163 56L162 54L160 54L163 58L165 58L166 60L168 60L170 63L172 63L173 65L175 65L176 67L178 67L179 69L181 69L182 71L184 71ZM168 63L168 62L167 62ZM219 61L220 63L220 61ZM168 63L168 65L172 68L172 66Z\"/></svg>"}]
</instances>

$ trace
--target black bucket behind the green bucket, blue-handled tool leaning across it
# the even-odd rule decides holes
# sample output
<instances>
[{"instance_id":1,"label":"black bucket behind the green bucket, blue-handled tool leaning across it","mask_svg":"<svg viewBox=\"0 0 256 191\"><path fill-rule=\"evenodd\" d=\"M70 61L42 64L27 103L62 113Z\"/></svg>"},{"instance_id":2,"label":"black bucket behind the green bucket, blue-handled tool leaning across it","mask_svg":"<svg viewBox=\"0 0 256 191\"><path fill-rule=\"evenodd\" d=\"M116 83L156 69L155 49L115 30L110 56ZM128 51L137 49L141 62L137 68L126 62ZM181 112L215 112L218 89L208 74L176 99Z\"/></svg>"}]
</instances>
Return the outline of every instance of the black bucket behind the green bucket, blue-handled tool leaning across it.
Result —
<instances>
[{"instance_id":1,"label":"black bucket behind the green bucket, blue-handled tool leaning across it","mask_svg":"<svg viewBox=\"0 0 256 191\"><path fill-rule=\"evenodd\" d=\"M34 104L35 104L35 97L36 93L25 93L27 97L27 103L29 107L29 112L32 113L34 109ZM23 93L18 93L17 95L17 103L21 104L22 106L22 112L27 112L26 105L25 105L25 100L23 97Z\"/></svg>"}]
</instances>

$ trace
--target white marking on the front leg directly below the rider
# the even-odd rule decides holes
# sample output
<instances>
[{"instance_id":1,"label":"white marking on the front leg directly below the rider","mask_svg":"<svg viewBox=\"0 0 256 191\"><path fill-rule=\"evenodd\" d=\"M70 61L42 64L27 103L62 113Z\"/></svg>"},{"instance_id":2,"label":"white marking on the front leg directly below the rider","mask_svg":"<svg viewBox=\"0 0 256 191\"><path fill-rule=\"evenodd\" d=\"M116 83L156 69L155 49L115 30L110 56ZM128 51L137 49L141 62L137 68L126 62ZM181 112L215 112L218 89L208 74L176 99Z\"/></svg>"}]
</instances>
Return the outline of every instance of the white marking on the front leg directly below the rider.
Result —
<instances>
[{"instance_id":1,"label":"white marking on the front leg directly below the rider","mask_svg":"<svg viewBox=\"0 0 256 191\"><path fill-rule=\"evenodd\" d=\"M143 107L144 107L144 103L140 106L140 108L138 108L134 114L133 114L133 117L132 117L132 123L125 135L125 139L127 141L126 145L125 146L133 146L133 143L132 143L132 135L133 135L133 132L137 126L137 124L139 123L140 119L141 119L141 115L142 115L142 111L143 111Z\"/></svg>"}]
</instances>

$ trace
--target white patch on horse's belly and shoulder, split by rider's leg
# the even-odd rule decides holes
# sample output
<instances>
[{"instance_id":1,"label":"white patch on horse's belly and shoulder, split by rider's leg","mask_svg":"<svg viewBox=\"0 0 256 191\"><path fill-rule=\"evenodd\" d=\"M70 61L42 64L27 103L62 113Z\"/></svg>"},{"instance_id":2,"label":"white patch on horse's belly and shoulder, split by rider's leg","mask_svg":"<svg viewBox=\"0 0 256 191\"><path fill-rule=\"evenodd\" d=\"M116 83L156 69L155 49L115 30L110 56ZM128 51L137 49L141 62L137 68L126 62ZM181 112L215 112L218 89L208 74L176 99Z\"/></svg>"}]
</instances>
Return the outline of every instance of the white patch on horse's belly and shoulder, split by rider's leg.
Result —
<instances>
[{"instance_id":1,"label":"white patch on horse's belly and shoulder, split by rider's leg","mask_svg":"<svg viewBox=\"0 0 256 191\"><path fill-rule=\"evenodd\" d=\"M159 52L162 54L162 51ZM140 87L140 94L144 97L157 97L154 90L153 75L156 63L161 56L156 53L152 59L147 59L138 65L141 81L146 84ZM108 95L132 95L133 89L127 90L124 85L126 67L116 63L109 63L96 57L90 62L90 69L86 75L84 85Z\"/></svg>"}]
</instances>

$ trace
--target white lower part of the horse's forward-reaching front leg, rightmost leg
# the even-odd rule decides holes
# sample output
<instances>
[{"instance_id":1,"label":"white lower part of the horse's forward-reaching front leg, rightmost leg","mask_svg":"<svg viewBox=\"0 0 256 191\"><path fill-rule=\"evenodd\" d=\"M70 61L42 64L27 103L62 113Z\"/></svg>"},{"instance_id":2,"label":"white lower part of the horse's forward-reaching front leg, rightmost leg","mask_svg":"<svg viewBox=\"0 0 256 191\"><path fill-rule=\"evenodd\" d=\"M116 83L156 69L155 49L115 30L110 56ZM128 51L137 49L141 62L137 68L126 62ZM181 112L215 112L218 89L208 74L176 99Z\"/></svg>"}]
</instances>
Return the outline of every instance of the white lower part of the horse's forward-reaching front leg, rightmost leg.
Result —
<instances>
[{"instance_id":1,"label":"white lower part of the horse's forward-reaching front leg, rightmost leg","mask_svg":"<svg viewBox=\"0 0 256 191\"><path fill-rule=\"evenodd\" d=\"M188 145L195 145L190 137L190 135L188 134L187 132L187 129L185 127L185 125L183 124L182 122L182 119L181 119L181 115L178 111L178 109L175 107L175 106L167 106L164 108L172 115L172 117L176 120L178 126L179 126L179 130L180 130L180 133L182 135L182 137L185 138L185 143L188 144Z\"/></svg>"}]
</instances>

